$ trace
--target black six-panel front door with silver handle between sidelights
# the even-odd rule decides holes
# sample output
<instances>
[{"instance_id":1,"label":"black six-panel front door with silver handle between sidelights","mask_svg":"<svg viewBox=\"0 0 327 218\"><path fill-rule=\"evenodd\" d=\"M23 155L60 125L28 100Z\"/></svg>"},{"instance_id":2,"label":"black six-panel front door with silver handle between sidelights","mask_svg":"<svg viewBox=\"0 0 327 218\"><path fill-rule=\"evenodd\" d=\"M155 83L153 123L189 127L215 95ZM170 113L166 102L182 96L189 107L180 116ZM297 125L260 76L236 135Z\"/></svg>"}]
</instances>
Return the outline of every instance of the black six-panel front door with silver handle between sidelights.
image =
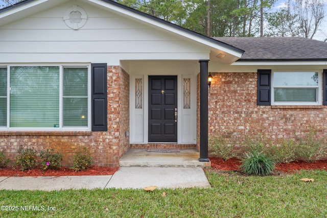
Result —
<instances>
[{"instance_id":1,"label":"black six-panel front door with silver handle between sidelights","mask_svg":"<svg viewBox=\"0 0 327 218\"><path fill-rule=\"evenodd\" d=\"M149 76L149 142L177 142L177 76Z\"/></svg>"}]
</instances>

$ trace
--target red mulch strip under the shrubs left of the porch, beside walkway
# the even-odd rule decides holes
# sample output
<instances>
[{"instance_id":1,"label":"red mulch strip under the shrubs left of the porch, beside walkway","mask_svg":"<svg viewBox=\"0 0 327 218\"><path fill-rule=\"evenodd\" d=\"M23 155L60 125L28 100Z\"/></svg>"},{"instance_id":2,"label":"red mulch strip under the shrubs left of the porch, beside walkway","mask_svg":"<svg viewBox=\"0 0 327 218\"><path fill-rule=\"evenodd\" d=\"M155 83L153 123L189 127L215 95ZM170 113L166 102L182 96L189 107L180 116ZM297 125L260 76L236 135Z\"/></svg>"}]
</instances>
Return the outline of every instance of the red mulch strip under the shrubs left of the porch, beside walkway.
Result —
<instances>
[{"instance_id":1,"label":"red mulch strip under the shrubs left of the porch, beside walkway","mask_svg":"<svg viewBox=\"0 0 327 218\"><path fill-rule=\"evenodd\" d=\"M20 171L19 169L13 169L11 167L1 168L0 176L99 176L99 175L113 175L118 171L118 167L104 167L104 166L91 166L84 171L74 171L67 167L61 167L60 169L48 169L43 171L36 167L29 171Z\"/></svg>"}]
</instances>

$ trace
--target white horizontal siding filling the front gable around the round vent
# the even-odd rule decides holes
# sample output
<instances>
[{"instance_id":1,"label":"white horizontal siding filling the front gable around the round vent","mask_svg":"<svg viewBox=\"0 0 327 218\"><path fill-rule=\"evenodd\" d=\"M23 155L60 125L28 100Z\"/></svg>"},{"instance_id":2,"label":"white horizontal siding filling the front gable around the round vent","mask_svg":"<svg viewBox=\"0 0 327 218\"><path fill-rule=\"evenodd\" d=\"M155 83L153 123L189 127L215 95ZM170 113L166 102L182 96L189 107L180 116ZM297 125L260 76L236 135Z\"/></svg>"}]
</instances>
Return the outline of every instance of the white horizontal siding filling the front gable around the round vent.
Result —
<instances>
[{"instance_id":1,"label":"white horizontal siding filling the front gable around the round vent","mask_svg":"<svg viewBox=\"0 0 327 218\"><path fill-rule=\"evenodd\" d=\"M118 65L120 60L209 58L209 47L203 44L85 3L79 6L86 11L88 20L81 29L72 30L62 17L74 4L0 27L0 61L105 61Z\"/></svg>"}]
</instances>

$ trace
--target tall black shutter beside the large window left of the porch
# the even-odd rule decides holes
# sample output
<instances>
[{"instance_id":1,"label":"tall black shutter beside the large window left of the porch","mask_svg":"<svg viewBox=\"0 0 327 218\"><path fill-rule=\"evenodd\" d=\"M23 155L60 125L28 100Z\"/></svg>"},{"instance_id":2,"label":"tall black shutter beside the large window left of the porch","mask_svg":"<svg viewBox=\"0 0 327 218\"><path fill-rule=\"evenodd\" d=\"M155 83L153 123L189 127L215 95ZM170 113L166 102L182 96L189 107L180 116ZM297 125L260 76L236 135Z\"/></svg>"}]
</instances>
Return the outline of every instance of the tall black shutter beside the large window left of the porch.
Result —
<instances>
[{"instance_id":1,"label":"tall black shutter beside the large window left of the porch","mask_svg":"<svg viewBox=\"0 0 327 218\"><path fill-rule=\"evenodd\" d=\"M107 64L92 64L92 131L107 131Z\"/></svg>"}]
</instances>

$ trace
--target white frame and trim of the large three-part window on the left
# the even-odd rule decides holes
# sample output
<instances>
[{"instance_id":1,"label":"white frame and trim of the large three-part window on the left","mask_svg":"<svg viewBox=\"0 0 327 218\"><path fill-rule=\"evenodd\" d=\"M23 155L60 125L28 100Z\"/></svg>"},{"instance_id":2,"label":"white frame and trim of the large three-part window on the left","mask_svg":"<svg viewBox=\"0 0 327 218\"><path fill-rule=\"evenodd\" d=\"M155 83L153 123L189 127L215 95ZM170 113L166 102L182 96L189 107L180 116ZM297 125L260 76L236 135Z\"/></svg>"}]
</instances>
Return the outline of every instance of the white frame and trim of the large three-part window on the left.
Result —
<instances>
[{"instance_id":1,"label":"white frame and trim of the large three-part window on the left","mask_svg":"<svg viewBox=\"0 0 327 218\"><path fill-rule=\"evenodd\" d=\"M10 67L11 66L58 66L59 67L59 128L13 128L10 125ZM72 64L8 64L1 67L7 67L7 127L0 127L0 131L91 131L91 64L90 63L72 63ZM63 68L64 67L85 67L87 68L87 127L63 127Z\"/></svg>"}]
</instances>

